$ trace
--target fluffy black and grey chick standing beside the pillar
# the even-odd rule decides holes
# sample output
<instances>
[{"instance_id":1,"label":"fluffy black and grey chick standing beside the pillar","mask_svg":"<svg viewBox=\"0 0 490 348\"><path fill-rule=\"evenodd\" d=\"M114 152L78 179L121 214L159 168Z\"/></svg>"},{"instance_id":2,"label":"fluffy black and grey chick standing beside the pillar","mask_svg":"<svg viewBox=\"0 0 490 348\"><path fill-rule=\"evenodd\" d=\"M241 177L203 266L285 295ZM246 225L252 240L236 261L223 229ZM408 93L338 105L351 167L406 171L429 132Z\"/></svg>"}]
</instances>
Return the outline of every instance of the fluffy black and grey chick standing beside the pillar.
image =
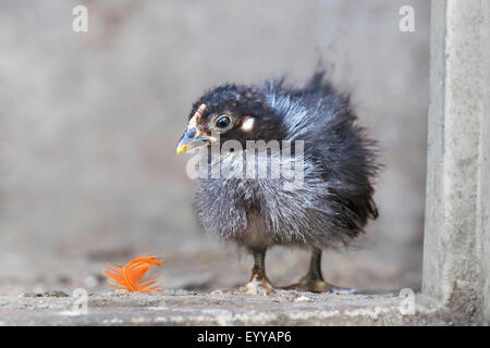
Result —
<instances>
[{"instance_id":1,"label":"fluffy black and grey chick standing beside the pillar","mask_svg":"<svg viewBox=\"0 0 490 348\"><path fill-rule=\"evenodd\" d=\"M286 288L355 291L324 281L321 253L348 246L378 216L380 165L376 141L324 72L303 87L269 79L207 91L193 104L176 152L193 148L205 150L196 190L205 231L254 256L244 289L273 291L266 251L286 246L313 252L306 276Z\"/></svg>"}]
</instances>

